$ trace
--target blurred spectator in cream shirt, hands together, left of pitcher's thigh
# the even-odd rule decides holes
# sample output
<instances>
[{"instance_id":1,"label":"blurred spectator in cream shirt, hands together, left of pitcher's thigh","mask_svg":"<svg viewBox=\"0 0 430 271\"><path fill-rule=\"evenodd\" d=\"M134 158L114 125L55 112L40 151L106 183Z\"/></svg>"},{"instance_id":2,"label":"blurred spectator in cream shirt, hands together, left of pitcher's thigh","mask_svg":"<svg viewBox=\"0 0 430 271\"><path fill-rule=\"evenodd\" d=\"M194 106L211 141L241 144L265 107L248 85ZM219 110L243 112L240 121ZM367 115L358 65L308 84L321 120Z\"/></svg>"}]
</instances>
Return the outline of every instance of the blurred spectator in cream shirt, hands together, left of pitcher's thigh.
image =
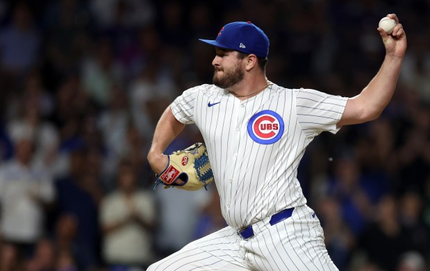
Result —
<instances>
[{"instance_id":1,"label":"blurred spectator in cream shirt, hands together, left of pitcher's thigh","mask_svg":"<svg viewBox=\"0 0 430 271\"><path fill-rule=\"evenodd\" d=\"M133 163L122 160L117 190L101 203L100 223L104 233L104 259L111 267L147 268L154 260L151 230L155 222L154 199L138 188Z\"/></svg>"}]
</instances>

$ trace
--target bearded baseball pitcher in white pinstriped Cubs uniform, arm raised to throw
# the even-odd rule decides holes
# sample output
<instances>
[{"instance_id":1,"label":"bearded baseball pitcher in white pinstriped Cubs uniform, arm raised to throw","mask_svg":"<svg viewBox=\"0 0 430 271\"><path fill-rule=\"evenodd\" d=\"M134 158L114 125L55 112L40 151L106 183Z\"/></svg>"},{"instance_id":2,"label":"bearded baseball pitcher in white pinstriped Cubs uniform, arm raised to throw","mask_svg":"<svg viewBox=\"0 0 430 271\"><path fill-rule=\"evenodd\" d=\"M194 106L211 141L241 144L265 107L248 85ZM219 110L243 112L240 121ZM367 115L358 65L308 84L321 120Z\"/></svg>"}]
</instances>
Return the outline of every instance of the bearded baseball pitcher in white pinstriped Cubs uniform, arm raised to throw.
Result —
<instances>
[{"instance_id":1,"label":"bearded baseball pitcher in white pinstriped Cubs uniform, arm raised to throw","mask_svg":"<svg viewBox=\"0 0 430 271\"><path fill-rule=\"evenodd\" d=\"M386 57L352 98L269 81L269 39L251 22L226 24L215 40L201 40L215 47L213 84L185 90L165 110L148 160L166 187L196 190L214 181L228 226L149 270L338 270L297 167L322 131L375 120L387 106L406 51L402 24L388 17L397 22L392 33L378 28ZM185 124L197 125L205 144L163 154Z\"/></svg>"}]
</instances>

